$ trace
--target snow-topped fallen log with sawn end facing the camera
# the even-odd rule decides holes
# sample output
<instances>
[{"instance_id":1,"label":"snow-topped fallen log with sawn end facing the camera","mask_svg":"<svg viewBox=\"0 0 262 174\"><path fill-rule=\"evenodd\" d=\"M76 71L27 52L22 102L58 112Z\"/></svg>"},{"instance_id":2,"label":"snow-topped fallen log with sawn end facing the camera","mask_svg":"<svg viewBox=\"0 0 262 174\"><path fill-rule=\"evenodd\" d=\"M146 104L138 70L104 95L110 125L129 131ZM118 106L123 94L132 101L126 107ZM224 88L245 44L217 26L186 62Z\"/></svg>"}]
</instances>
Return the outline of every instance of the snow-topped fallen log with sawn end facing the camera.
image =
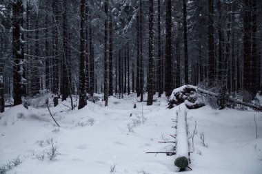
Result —
<instances>
[{"instance_id":1,"label":"snow-topped fallen log with sawn end facing the camera","mask_svg":"<svg viewBox=\"0 0 262 174\"><path fill-rule=\"evenodd\" d=\"M177 158L174 160L174 165L180 169L179 171L185 171L185 168L187 168L189 164L189 146L187 129L188 128L186 112L184 114L177 113Z\"/></svg>"}]
</instances>

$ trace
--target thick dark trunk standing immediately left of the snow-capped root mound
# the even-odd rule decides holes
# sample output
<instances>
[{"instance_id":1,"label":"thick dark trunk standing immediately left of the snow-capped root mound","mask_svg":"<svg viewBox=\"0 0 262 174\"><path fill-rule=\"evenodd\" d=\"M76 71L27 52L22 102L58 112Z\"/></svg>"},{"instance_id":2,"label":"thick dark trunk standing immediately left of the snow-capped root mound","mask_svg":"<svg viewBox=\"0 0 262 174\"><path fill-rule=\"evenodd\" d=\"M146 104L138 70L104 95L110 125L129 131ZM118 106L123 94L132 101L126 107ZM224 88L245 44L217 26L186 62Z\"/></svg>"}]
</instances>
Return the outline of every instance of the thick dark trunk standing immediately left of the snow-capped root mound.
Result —
<instances>
[{"instance_id":1,"label":"thick dark trunk standing immediately left of the snow-capped root mound","mask_svg":"<svg viewBox=\"0 0 262 174\"><path fill-rule=\"evenodd\" d=\"M172 93L172 0L166 1L165 96Z\"/></svg>"}]
</instances>

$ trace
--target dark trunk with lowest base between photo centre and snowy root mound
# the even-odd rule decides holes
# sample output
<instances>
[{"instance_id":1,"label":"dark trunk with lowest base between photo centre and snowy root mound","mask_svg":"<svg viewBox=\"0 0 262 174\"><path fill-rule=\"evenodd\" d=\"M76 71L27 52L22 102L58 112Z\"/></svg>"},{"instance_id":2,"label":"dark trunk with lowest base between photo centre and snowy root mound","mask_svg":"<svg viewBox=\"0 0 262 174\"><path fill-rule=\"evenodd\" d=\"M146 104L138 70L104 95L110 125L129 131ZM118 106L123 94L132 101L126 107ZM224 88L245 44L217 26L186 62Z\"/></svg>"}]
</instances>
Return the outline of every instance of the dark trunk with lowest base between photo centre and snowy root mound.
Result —
<instances>
[{"instance_id":1,"label":"dark trunk with lowest base between photo centre and snowy root mound","mask_svg":"<svg viewBox=\"0 0 262 174\"><path fill-rule=\"evenodd\" d=\"M153 0L148 1L149 8L149 41L148 41L148 101L147 105L153 104L154 96L154 59L153 59L153 20L154 20L154 3Z\"/></svg>"}]
</instances>

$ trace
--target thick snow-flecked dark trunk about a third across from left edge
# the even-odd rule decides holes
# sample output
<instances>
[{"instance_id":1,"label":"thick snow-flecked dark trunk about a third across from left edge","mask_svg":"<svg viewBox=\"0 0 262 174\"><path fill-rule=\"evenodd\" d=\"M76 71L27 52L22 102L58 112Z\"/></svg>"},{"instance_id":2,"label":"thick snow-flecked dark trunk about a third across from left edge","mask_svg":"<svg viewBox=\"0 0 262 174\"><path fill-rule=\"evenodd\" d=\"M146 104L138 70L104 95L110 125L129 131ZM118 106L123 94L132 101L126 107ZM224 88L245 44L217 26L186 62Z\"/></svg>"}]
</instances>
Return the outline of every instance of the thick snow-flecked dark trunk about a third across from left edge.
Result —
<instances>
[{"instance_id":1,"label":"thick snow-flecked dark trunk about a third across from left edge","mask_svg":"<svg viewBox=\"0 0 262 174\"><path fill-rule=\"evenodd\" d=\"M82 109L86 102L85 82L85 0L80 3L80 67L79 67L79 106Z\"/></svg>"}]
</instances>

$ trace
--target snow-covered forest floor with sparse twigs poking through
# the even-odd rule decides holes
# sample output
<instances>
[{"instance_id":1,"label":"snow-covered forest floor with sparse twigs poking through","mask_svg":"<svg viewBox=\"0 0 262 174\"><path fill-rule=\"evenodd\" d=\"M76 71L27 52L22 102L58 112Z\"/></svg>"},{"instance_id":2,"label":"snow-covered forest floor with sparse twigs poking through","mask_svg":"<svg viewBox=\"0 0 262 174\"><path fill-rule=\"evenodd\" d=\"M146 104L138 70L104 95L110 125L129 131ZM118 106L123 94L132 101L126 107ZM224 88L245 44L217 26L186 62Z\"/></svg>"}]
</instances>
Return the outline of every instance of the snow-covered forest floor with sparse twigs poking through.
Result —
<instances>
[{"instance_id":1,"label":"snow-covered forest floor with sparse twigs poking through","mask_svg":"<svg viewBox=\"0 0 262 174\"><path fill-rule=\"evenodd\" d=\"M123 99L110 97L109 106L88 102L81 110L70 111L69 102L50 110L59 122L57 127L46 108L24 109L21 105L0 114L0 167L19 156L22 163L7 173L150 173L178 171L175 156L147 151L171 151L172 128L176 111L182 105L165 109L166 99L157 98L150 107L137 102L136 94ZM69 100L68 100L69 101ZM134 109L134 103L137 108ZM143 114L142 114L143 111ZM132 115L132 116L131 116ZM262 113L202 107L188 110L192 171L188 173L262 173ZM258 125L256 139L254 115ZM205 138L205 142L200 136ZM58 155L48 159L53 144ZM41 160L41 157L45 157ZM115 166L115 168L114 168ZM114 169L113 169L114 168Z\"/></svg>"}]
</instances>

